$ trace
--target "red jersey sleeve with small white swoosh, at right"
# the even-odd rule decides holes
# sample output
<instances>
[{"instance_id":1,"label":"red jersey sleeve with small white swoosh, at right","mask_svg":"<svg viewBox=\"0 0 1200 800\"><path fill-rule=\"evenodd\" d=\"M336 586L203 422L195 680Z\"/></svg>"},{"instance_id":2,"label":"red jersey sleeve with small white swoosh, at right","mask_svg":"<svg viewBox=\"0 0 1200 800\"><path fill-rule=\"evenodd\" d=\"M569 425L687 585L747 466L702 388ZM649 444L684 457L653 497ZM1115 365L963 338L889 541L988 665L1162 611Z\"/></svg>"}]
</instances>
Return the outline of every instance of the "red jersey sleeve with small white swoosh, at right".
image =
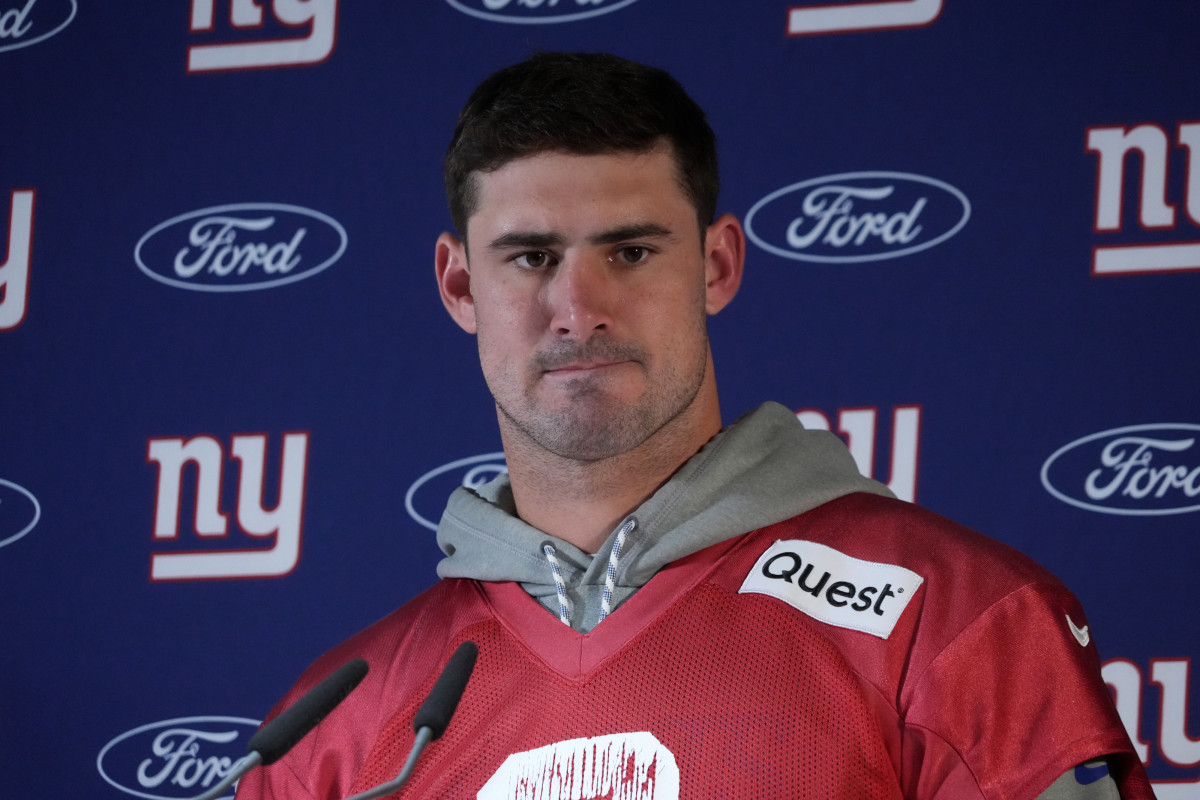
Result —
<instances>
[{"instance_id":1,"label":"red jersey sleeve with small white swoosh, at right","mask_svg":"<svg viewBox=\"0 0 1200 800\"><path fill-rule=\"evenodd\" d=\"M1026 584L992 603L910 686L906 796L1033 800L1076 764L1110 756L1126 800L1153 798L1087 619L1061 585Z\"/></svg>"}]
</instances>

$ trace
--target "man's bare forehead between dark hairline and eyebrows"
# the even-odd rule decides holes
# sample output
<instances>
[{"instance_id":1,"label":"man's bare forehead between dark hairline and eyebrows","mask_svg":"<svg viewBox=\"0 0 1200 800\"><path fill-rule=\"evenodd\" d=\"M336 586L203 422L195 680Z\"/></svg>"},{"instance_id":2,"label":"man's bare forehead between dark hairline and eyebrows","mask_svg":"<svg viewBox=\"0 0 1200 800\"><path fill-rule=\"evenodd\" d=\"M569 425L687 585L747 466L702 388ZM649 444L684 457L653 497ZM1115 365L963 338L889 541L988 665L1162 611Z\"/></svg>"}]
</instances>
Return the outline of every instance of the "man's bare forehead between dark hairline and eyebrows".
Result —
<instances>
[{"instance_id":1,"label":"man's bare forehead between dark hairline and eyebrows","mask_svg":"<svg viewBox=\"0 0 1200 800\"><path fill-rule=\"evenodd\" d=\"M673 229L688 219L698 225L665 144L644 152L544 152L473 180L476 203L468 229L485 236L517 229L584 233L648 219L672 221Z\"/></svg>"}]
</instances>

